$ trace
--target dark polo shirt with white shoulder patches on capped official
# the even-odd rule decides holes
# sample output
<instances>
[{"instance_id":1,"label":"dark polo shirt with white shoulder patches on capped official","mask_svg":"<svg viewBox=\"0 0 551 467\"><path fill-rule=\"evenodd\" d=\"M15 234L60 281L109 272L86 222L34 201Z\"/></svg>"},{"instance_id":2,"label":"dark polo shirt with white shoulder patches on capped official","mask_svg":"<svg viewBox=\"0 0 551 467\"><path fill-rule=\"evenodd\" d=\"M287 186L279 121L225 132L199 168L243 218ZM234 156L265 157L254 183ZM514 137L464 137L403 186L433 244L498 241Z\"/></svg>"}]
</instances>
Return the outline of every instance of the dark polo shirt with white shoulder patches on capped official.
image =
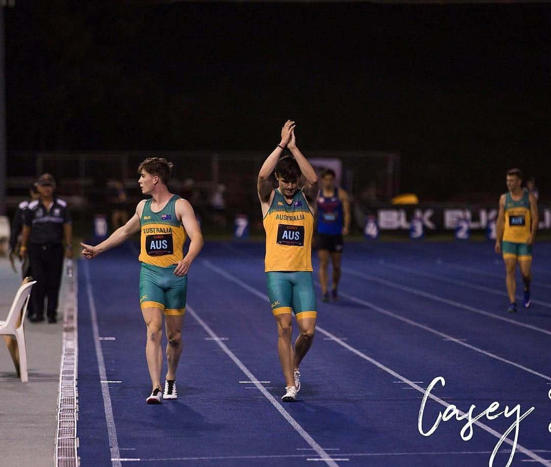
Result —
<instances>
[{"instance_id":1,"label":"dark polo shirt with white shoulder patches on capped official","mask_svg":"<svg viewBox=\"0 0 551 467\"><path fill-rule=\"evenodd\" d=\"M63 224L72 222L67 202L60 198L53 198L50 211L40 200L34 200L23 212L23 224L31 228L29 243L38 245L62 243Z\"/></svg>"}]
</instances>

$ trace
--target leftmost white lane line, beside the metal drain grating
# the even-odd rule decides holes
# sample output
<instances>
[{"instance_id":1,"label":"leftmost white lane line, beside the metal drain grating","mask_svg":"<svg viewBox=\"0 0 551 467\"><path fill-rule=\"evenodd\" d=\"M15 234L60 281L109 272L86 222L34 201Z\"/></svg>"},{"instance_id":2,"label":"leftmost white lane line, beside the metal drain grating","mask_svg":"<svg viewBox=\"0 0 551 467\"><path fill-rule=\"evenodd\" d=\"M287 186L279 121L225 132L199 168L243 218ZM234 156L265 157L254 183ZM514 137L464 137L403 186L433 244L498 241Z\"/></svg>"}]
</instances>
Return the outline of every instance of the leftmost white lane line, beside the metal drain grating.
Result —
<instances>
[{"instance_id":1,"label":"leftmost white lane line, beside the metal drain grating","mask_svg":"<svg viewBox=\"0 0 551 467\"><path fill-rule=\"evenodd\" d=\"M86 291L88 294L88 304L90 306L90 320L92 323L92 331L94 334L94 347L96 350L96 358L98 359L98 370L100 373L100 380L107 381L107 375L105 372L105 362L103 352L100 345L100 331L98 327L98 313L96 312L96 304L94 301L94 293L92 292L92 284L90 281L90 266L88 262L84 261L84 276L86 278ZM111 396L109 394L108 383L101 383L101 395L104 400L105 410L105 422L107 423L107 436L109 437L109 445L111 449L111 463L113 467L121 467L121 463L117 460L120 457L118 452L117 442L117 427L115 426L115 419L113 417L113 409L111 407Z\"/></svg>"}]
</instances>

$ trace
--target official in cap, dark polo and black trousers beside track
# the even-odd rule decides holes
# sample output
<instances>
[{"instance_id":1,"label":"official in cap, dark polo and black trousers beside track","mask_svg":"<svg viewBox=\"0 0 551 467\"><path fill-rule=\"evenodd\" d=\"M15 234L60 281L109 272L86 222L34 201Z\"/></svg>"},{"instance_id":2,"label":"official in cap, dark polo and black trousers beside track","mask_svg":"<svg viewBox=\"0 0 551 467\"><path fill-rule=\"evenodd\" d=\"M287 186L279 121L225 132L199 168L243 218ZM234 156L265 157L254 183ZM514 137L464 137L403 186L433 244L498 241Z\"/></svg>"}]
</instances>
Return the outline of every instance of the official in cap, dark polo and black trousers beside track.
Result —
<instances>
[{"instance_id":1,"label":"official in cap, dark polo and black trousers beside track","mask_svg":"<svg viewBox=\"0 0 551 467\"><path fill-rule=\"evenodd\" d=\"M34 313L29 320L44 321L47 298L48 323L56 323L63 257L73 257L72 219L67 202L54 195L56 182L51 174L42 174L35 186L40 196L23 213L19 248L22 259L29 255L30 273L37 281L31 292Z\"/></svg>"}]
</instances>

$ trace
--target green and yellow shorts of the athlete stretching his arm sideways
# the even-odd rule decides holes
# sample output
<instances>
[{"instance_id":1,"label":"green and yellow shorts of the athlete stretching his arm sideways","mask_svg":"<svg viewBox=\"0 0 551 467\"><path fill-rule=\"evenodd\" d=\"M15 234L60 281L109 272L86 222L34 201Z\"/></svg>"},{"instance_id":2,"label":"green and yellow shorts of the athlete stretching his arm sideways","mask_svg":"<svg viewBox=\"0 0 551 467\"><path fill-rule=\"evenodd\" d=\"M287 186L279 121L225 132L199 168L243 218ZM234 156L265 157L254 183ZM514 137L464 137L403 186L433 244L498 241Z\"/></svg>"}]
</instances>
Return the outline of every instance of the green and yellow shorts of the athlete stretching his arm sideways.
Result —
<instances>
[{"instance_id":1,"label":"green and yellow shorts of the athlete stretching his arm sideways","mask_svg":"<svg viewBox=\"0 0 551 467\"><path fill-rule=\"evenodd\" d=\"M160 308L163 314L186 313L187 274L174 275L176 267L159 267L142 262L139 273L139 302L144 308Z\"/></svg>"}]
</instances>

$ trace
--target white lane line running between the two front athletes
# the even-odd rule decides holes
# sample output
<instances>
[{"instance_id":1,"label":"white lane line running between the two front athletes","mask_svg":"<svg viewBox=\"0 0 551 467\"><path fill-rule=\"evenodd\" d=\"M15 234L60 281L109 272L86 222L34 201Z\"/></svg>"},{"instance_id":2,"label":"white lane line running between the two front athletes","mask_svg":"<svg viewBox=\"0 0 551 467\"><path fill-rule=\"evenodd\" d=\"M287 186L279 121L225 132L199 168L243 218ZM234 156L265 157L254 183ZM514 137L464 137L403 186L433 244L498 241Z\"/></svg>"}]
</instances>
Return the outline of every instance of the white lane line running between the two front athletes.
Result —
<instances>
[{"instance_id":1,"label":"white lane line running between the two front athletes","mask_svg":"<svg viewBox=\"0 0 551 467\"><path fill-rule=\"evenodd\" d=\"M193 316L193 319L195 319L197 323L199 323L201 327L205 331L207 331L207 334L210 337L218 337L214 333L214 331L210 329L208 324L205 323L201 318L199 318L199 315L197 315L197 313L190 307L189 304L186 306L186 310L188 313L191 314L191 316ZM247 368L241 362L241 360L235 356L235 354L228 348L228 346L226 346L225 343L220 340L216 340L215 342L220 346L220 348L222 348L222 350L226 353L226 355L228 355L228 357L231 358L231 360L236 364L236 366L239 367L239 369L243 373L245 373L246 377L249 378L249 380L253 382L253 384L255 384L258 390L260 390L262 394L266 397L266 399L268 399L272 403L272 405L276 407L278 412L281 415L283 415L285 420L289 422L289 424L300 434L300 436L302 436L302 438L304 438L304 441L306 441L310 445L310 447L313 448L321 458L328 458L329 455L325 452L325 450L323 450L323 448L318 443L316 443L316 441L314 441L314 438L312 438L310 434L308 434L306 430L304 430L304 428L302 428L299 425L299 423L293 417L291 417L289 412L283 408L283 406L276 400L276 398L274 398L274 396L270 394L260 382L258 382L255 375L253 375L249 370L249 368ZM338 467L338 464L330 458L326 460L326 463L331 467Z\"/></svg>"}]
</instances>

